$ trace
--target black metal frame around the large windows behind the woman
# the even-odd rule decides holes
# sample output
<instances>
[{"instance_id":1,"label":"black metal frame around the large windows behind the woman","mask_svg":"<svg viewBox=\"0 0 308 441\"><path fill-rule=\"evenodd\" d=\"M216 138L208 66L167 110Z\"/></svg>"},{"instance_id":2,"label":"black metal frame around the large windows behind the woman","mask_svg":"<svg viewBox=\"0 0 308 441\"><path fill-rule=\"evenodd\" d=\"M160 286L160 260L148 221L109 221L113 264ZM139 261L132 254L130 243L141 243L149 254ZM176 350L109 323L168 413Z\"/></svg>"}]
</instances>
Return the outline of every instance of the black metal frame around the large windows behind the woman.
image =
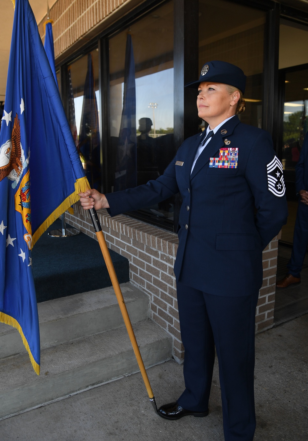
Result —
<instances>
[{"instance_id":1,"label":"black metal frame around the large windows behind the woman","mask_svg":"<svg viewBox=\"0 0 308 441\"><path fill-rule=\"evenodd\" d=\"M139 21L143 16L167 3L169 0L146 0L124 17L107 26L105 30L93 37L86 45L71 53L56 68L61 71L61 95L64 108L67 109L68 75L67 66L78 57L84 56L93 48L99 49L99 118L100 118L100 168L102 191L108 191L110 173L110 116L109 116L109 39L125 30L130 24ZM262 127L270 132L274 147L279 153L280 127L279 115L279 20L280 17L308 24L308 13L299 9L276 3L271 0L226 0L229 3L242 4L246 7L266 12L264 25L264 64L263 64L263 105ZM184 139L198 131L198 115L195 111L193 90L183 86L198 72L198 0L174 0L174 142L176 150ZM196 26L197 23L197 26ZM157 225L169 231L176 231L181 206L180 195L175 197L174 221L166 222L140 212L126 213L149 224Z\"/></svg>"}]
</instances>

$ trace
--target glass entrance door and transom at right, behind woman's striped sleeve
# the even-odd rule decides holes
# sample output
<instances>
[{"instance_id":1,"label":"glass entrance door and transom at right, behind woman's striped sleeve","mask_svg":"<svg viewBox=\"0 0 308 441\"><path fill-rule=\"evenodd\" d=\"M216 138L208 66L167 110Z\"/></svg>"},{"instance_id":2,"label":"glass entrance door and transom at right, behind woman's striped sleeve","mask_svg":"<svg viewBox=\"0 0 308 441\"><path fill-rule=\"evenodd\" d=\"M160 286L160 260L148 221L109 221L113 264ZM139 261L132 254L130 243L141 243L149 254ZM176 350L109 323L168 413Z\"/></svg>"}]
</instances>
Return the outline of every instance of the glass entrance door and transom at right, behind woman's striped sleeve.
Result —
<instances>
[{"instance_id":1,"label":"glass entrance door and transom at right, behind woman's striped sleeve","mask_svg":"<svg viewBox=\"0 0 308 441\"><path fill-rule=\"evenodd\" d=\"M295 166L308 130L308 27L281 19L279 37L280 133L279 157L286 183L289 217L281 241L293 244L297 211Z\"/></svg>"}]
</instances>

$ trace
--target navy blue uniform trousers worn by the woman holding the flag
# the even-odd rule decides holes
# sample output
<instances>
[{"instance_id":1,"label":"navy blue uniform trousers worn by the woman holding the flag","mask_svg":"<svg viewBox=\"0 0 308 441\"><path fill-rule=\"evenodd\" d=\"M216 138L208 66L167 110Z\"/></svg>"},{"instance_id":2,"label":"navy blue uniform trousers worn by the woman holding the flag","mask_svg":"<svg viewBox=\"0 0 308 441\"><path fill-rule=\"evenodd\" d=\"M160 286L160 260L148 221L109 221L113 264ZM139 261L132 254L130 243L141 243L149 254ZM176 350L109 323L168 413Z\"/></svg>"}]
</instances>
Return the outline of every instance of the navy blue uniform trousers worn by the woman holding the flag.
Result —
<instances>
[{"instance_id":1,"label":"navy blue uniform trousers worn by the woman holding the flag","mask_svg":"<svg viewBox=\"0 0 308 441\"><path fill-rule=\"evenodd\" d=\"M212 295L177 281L185 390L178 403L209 408L215 347L219 364L225 441L252 441L256 428L253 392L255 313L258 291Z\"/></svg>"}]
</instances>

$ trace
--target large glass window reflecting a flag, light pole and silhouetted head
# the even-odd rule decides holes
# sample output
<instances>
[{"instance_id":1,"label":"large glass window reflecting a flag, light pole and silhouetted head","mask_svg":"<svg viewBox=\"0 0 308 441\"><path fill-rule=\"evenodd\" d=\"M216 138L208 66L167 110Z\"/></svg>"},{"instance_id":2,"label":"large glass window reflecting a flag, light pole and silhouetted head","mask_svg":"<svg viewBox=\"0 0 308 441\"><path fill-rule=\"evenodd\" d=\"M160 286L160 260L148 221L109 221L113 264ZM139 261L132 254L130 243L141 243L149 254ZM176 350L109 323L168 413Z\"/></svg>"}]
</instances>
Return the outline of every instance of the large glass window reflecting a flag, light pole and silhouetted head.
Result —
<instances>
[{"instance_id":1,"label":"large glass window reflecting a flag, light pole and silhouetted head","mask_svg":"<svg viewBox=\"0 0 308 441\"><path fill-rule=\"evenodd\" d=\"M117 191L158 178L175 154L173 2L111 37L109 64L109 191ZM172 224L173 198L140 213Z\"/></svg>"}]
</instances>

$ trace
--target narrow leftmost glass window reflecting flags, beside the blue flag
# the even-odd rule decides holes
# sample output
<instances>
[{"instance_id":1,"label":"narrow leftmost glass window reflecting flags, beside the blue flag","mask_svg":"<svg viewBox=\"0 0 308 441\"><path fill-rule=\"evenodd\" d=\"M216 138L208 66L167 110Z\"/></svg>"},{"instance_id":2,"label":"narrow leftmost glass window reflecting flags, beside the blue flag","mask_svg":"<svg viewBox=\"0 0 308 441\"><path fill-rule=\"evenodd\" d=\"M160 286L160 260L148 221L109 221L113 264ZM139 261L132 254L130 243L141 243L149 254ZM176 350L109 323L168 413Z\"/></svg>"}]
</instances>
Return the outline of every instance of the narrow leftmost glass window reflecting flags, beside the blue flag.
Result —
<instances>
[{"instance_id":1,"label":"narrow leftmost glass window reflecting flags, beside the blue flag","mask_svg":"<svg viewBox=\"0 0 308 441\"><path fill-rule=\"evenodd\" d=\"M88 181L100 190L99 63L98 49L68 66L71 131Z\"/></svg>"}]
</instances>

